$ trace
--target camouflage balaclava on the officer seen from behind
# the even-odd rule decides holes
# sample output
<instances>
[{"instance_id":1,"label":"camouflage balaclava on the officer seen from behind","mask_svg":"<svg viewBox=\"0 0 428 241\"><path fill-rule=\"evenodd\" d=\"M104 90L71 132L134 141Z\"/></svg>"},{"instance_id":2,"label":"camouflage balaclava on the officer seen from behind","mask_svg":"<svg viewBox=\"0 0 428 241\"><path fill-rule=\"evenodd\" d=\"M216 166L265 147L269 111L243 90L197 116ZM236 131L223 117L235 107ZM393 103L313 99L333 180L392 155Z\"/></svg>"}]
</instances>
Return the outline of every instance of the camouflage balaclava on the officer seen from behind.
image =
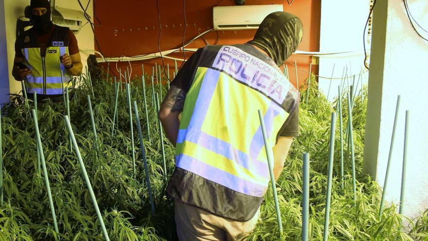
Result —
<instances>
[{"instance_id":1,"label":"camouflage balaclava on the officer seen from behind","mask_svg":"<svg viewBox=\"0 0 428 241\"><path fill-rule=\"evenodd\" d=\"M264 50L280 66L296 51L302 41L302 21L285 12L274 12L265 19L257 30L254 39L248 43Z\"/></svg>"}]
</instances>

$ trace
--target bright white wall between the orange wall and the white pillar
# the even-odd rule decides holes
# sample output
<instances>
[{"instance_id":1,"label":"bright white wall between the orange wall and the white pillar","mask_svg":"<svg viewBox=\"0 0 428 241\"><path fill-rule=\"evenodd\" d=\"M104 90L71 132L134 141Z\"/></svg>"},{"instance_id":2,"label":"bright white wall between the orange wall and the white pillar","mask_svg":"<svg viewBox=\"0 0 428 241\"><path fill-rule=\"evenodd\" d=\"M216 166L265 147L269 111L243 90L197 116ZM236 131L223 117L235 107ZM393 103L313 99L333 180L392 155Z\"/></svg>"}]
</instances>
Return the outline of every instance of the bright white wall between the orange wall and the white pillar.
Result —
<instances>
[{"instance_id":1,"label":"bright white wall between the orange wall and the white pillar","mask_svg":"<svg viewBox=\"0 0 428 241\"><path fill-rule=\"evenodd\" d=\"M369 15L369 0L322 0L321 1L321 35L320 52L321 53L340 53L353 52L354 54L343 54L341 56L320 57L320 76L319 90L333 100L338 96L338 86L342 77L343 68L348 67L351 75L356 76L363 68L364 53L363 32L364 25ZM366 45L366 48L368 46ZM333 65L336 64L333 73L333 80L330 87L330 77L333 72ZM363 83L367 84L367 73L363 74ZM348 83L346 83L346 86ZM349 81L352 85L352 78ZM330 93L328 89L330 87ZM358 84L359 91L361 82Z\"/></svg>"}]
</instances>

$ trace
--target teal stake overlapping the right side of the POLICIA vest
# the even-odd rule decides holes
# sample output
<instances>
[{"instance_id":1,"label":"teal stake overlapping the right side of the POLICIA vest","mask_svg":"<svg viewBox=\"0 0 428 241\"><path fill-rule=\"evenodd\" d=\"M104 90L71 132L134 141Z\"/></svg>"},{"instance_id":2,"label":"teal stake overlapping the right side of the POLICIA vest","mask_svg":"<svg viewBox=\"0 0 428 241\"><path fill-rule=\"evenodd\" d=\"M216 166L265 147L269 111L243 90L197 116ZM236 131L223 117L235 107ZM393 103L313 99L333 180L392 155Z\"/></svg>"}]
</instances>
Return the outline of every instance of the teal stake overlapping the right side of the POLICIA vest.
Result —
<instances>
[{"instance_id":1,"label":"teal stake overlapping the right side of the POLICIA vest","mask_svg":"<svg viewBox=\"0 0 428 241\"><path fill-rule=\"evenodd\" d=\"M260 126L262 128L263 133L263 140L265 141L265 149L266 149L266 155L267 155L267 165L269 167L269 175L270 175L270 182L272 184L272 192L273 192L273 200L275 202L275 209L276 209L276 218L278 221L278 228L281 235L283 234L283 225L281 221L281 212L279 210L279 204L278 204L278 195L276 193L276 183L275 183L275 177L273 176L273 153L272 148L270 147L269 142L267 141L267 134L265 129L265 121L263 120L263 113L262 110L259 110L259 119L260 119Z\"/></svg>"}]
</instances>

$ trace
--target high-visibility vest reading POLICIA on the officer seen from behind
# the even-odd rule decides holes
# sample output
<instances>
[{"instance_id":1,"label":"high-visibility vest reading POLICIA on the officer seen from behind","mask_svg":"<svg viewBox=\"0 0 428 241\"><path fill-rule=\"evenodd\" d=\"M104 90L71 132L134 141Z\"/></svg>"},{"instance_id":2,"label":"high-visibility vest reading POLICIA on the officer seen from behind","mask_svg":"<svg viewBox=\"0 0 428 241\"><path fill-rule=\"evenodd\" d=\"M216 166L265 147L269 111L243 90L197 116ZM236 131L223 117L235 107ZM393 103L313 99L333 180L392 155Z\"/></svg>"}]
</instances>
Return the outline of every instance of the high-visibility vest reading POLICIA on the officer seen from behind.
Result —
<instances>
[{"instance_id":1,"label":"high-visibility vest reading POLICIA on the officer seen from behind","mask_svg":"<svg viewBox=\"0 0 428 241\"><path fill-rule=\"evenodd\" d=\"M206 48L210 52L215 47ZM235 46L221 46L215 53L210 65L197 67L178 132L177 168L171 182L176 173L183 173L188 182L183 187L193 191L172 192L180 196L179 202L246 221L257 211L270 181L258 110L264 114L273 147L298 103L298 92L266 60ZM202 194L187 194L195 189ZM236 211L239 205L250 211Z\"/></svg>"}]
</instances>

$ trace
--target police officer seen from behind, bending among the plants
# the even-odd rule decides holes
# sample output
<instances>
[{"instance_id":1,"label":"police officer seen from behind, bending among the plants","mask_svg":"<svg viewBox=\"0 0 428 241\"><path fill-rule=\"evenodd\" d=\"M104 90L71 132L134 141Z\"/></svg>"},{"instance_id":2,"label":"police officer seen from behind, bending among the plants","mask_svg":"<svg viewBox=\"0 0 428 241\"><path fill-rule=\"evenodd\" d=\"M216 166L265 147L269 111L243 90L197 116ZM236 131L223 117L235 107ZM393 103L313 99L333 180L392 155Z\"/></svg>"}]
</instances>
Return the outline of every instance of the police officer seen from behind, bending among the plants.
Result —
<instances>
[{"instance_id":1,"label":"police officer seen from behind, bending among the plants","mask_svg":"<svg viewBox=\"0 0 428 241\"><path fill-rule=\"evenodd\" d=\"M159 116L176 144L167 195L181 241L243 240L254 228L269 182L257 111L278 178L299 135L299 93L278 66L302 36L299 18L271 13L248 43L198 49L171 83Z\"/></svg>"}]
</instances>

